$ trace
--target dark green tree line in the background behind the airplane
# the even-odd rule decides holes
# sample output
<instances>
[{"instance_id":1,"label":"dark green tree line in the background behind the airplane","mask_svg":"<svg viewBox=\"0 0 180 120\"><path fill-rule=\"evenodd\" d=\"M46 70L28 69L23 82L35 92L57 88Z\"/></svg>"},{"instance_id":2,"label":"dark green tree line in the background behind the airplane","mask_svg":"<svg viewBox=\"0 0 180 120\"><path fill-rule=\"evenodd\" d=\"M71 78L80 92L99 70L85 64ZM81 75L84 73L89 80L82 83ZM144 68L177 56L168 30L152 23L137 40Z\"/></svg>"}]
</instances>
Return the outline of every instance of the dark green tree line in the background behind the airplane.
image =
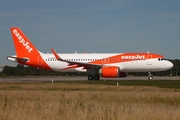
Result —
<instances>
[{"instance_id":1,"label":"dark green tree line in the background behind the airplane","mask_svg":"<svg viewBox=\"0 0 180 120\"><path fill-rule=\"evenodd\" d=\"M180 59L169 60L174 66L172 69L162 72L153 72L154 76L179 76L180 75ZM87 76L83 72L54 72L34 67L17 64L16 67L4 66L1 76ZM147 72L130 72L128 75L147 76Z\"/></svg>"}]
</instances>

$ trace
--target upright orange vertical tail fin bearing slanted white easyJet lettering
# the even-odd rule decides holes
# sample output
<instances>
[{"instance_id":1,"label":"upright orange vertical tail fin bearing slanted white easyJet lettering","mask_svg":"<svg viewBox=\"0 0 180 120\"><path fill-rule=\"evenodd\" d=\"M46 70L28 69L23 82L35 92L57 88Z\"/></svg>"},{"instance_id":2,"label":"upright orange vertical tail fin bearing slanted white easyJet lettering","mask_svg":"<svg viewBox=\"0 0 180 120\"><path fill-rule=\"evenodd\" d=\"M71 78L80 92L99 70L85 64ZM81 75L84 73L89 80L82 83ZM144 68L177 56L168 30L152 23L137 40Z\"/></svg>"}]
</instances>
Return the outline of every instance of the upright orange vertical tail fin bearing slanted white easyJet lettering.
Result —
<instances>
[{"instance_id":1,"label":"upright orange vertical tail fin bearing slanted white easyJet lettering","mask_svg":"<svg viewBox=\"0 0 180 120\"><path fill-rule=\"evenodd\" d=\"M17 57L30 57L39 54L38 50L25 36L20 28L11 28L12 38L16 49Z\"/></svg>"}]
</instances>

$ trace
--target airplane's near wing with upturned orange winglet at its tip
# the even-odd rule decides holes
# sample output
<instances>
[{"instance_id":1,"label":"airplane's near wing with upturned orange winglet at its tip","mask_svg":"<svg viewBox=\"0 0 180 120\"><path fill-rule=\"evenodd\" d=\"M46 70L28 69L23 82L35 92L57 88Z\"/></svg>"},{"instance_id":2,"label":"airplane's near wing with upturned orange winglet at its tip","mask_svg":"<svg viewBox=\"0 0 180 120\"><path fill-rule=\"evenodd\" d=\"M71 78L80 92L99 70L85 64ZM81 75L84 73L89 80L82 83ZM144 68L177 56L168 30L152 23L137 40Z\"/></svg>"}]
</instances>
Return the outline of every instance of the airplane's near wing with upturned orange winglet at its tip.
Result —
<instances>
[{"instance_id":1,"label":"airplane's near wing with upturned orange winglet at its tip","mask_svg":"<svg viewBox=\"0 0 180 120\"><path fill-rule=\"evenodd\" d=\"M100 68L102 68L101 64L82 63L82 62L64 60L56 53L56 51L54 49L51 49L51 50L52 50L52 52L53 52L53 54L57 60L62 61L62 62L67 62L67 63L69 63L69 66L76 65L77 67L84 67L84 69L91 69L91 68L100 69Z\"/></svg>"}]
</instances>

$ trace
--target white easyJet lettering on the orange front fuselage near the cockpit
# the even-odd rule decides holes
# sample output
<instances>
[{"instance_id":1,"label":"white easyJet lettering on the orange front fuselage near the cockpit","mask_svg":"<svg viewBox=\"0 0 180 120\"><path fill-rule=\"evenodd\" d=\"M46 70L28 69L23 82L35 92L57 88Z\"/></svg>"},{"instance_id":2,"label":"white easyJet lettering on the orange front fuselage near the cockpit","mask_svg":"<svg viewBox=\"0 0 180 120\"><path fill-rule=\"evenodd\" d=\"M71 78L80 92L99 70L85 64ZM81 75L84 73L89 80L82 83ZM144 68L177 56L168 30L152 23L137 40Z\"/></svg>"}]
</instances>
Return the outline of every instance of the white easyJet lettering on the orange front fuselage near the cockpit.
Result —
<instances>
[{"instance_id":1,"label":"white easyJet lettering on the orange front fuselage near the cockpit","mask_svg":"<svg viewBox=\"0 0 180 120\"><path fill-rule=\"evenodd\" d=\"M123 55L123 56L121 56L121 59L143 60L143 59L145 59L145 55Z\"/></svg>"}]
</instances>

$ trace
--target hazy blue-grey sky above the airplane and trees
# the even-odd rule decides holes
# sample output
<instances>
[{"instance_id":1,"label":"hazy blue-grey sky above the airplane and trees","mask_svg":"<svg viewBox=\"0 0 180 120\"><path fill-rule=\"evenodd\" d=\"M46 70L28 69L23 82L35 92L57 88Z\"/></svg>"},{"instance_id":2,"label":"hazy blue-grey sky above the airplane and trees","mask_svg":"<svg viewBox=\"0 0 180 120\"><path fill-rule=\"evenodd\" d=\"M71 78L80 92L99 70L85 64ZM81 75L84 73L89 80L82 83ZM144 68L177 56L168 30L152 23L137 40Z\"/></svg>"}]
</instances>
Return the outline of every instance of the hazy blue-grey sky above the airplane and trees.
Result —
<instances>
[{"instance_id":1,"label":"hazy blue-grey sky above the airplane and trees","mask_svg":"<svg viewBox=\"0 0 180 120\"><path fill-rule=\"evenodd\" d=\"M44 53L151 52L180 59L179 0L0 0L0 64L10 27Z\"/></svg>"}]
</instances>

